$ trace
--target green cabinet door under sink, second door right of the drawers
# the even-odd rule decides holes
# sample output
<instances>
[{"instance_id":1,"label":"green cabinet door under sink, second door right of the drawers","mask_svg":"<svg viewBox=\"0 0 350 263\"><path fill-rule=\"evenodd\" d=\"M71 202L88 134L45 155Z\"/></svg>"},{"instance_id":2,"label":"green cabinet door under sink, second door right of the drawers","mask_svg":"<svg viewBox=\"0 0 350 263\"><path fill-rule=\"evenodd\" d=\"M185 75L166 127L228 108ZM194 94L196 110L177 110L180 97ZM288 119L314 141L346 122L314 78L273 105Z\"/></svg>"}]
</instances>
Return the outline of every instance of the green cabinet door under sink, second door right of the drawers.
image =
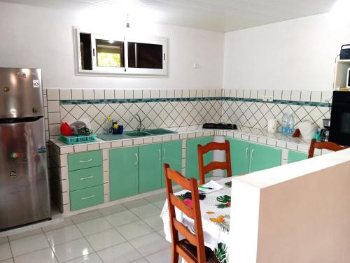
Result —
<instances>
[{"instance_id":1,"label":"green cabinet door under sink, second door right of the drawers","mask_svg":"<svg viewBox=\"0 0 350 263\"><path fill-rule=\"evenodd\" d=\"M139 192L160 189L162 166L161 143L139 146Z\"/></svg>"}]
</instances>

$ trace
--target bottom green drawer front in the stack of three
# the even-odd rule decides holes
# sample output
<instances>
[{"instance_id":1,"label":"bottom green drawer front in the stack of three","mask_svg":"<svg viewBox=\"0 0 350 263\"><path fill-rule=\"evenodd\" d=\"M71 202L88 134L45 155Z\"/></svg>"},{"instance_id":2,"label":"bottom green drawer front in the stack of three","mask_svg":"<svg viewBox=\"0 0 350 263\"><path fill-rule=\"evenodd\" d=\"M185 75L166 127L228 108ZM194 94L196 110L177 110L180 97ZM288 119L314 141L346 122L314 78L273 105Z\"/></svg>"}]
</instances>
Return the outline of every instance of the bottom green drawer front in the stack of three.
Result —
<instances>
[{"instance_id":1,"label":"bottom green drawer front in the stack of three","mask_svg":"<svg viewBox=\"0 0 350 263\"><path fill-rule=\"evenodd\" d=\"M104 202L104 185L76 190L70 193L71 211L96 206Z\"/></svg>"}]
</instances>

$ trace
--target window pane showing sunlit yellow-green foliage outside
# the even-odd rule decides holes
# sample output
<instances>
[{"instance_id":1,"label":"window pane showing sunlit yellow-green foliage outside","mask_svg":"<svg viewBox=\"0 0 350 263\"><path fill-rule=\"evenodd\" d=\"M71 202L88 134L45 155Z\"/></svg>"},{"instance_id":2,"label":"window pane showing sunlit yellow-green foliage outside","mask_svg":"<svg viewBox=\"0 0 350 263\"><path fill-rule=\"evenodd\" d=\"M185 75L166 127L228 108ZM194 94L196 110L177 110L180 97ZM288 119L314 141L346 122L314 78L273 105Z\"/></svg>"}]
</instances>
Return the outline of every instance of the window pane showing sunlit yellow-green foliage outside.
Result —
<instances>
[{"instance_id":1,"label":"window pane showing sunlit yellow-green foliage outside","mask_svg":"<svg viewBox=\"0 0 350 263\"><path fill-rule=\"evenodd\" d=\"M97 66L124 67L124 42L96 39Z\"/></svg>"}]
</instances>

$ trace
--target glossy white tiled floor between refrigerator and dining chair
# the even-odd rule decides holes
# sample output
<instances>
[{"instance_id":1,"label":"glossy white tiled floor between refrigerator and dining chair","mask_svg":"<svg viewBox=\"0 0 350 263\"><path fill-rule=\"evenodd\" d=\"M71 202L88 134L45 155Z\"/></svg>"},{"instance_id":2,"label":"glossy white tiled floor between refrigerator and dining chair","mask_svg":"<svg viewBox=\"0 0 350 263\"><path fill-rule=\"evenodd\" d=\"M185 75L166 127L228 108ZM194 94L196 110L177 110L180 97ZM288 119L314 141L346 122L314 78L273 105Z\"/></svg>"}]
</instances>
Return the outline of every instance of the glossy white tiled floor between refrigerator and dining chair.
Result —
<instances>
[{"instance_id":1,"label":"glossy white tiled floor between refrigerator and dining chair","mask_svg":"<svg viewBox=\"0 0 350 263\"><path fill-rule=\"evenodd\" d=\"M0 238L0 263L170 262L164 202L165 194L156 194Z\"/></svg>"}]
</instances>

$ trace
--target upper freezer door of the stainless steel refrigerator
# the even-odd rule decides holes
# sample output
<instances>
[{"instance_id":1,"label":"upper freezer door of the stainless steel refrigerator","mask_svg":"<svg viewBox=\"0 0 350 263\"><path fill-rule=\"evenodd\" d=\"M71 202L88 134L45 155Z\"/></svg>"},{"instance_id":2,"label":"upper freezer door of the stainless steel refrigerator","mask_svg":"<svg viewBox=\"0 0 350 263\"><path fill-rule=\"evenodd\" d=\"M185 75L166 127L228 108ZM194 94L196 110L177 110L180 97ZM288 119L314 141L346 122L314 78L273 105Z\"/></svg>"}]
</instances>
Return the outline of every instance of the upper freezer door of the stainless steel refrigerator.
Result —
<instances>
[{"instance_id":1,"label":"upper freezer door of the stainless steel refrigerator","mask_svg":"<svg viewBox=\"0 0 350 263\"><path fill-rule=\"evenodd\" d=\"M43 116L41 69L0 68L0 119Z\"/></svg>"}]
</instances>

